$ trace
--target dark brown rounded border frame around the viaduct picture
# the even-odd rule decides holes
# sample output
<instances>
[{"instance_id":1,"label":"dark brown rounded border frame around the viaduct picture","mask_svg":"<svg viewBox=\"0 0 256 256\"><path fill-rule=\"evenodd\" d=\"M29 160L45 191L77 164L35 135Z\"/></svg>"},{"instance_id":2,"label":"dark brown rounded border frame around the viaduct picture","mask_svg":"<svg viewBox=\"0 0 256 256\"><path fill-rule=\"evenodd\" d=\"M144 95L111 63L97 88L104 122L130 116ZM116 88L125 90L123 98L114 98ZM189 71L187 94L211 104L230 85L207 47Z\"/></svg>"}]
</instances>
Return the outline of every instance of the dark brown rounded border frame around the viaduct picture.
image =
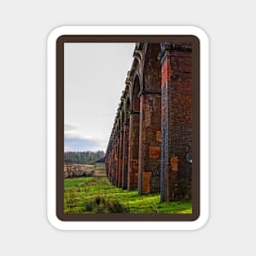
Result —
<instances>
[{"instance_id":1,"label":"dark brown rounded border frame around the viaduct picture","mask_svg":"<svg viewBox=\"0 0 256 256\"><path fill-rule=\"evenodd\" d=\"M193 72L192 213L63 213L64 43L160 43L190 41ZM195 221L200 217L200 40L194 35L62 35L56 39L56 217L61 221Z\"/></svg>"}]
</instances>

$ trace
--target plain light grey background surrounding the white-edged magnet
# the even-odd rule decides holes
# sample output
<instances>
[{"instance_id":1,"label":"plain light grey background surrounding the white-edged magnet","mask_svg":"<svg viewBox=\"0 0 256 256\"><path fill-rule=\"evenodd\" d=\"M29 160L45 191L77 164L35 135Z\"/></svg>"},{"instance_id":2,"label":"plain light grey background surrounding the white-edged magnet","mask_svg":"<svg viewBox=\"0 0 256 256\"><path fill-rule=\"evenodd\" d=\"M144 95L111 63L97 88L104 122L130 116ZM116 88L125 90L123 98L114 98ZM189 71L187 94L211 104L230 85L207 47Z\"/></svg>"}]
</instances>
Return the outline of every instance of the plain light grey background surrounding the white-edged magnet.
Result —
<instances>
[{"instance_id":1,"label":"plain light grey background surrounding the white-edged magnet","mask_svg":"<svg viewBox=\"0 0 256 256\"><path fill-rule=\"evenodd\" d=\"M255 254L254 11L253 1L2 1L0 253ZM61 25L195 25L209 35L210 211L203 228L58 231L47 222L47 35Z\"/></svg>"}]
</instances>

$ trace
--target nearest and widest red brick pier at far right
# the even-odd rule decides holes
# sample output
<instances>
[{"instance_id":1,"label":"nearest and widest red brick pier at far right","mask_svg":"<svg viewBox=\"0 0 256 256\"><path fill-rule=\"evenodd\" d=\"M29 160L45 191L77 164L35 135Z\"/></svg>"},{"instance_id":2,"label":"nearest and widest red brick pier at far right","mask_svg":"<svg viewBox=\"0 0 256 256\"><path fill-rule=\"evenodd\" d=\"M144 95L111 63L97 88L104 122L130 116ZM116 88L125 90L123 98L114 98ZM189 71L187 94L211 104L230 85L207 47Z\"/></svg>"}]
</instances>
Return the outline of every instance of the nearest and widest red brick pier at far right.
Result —
<instances>
[{"instance_id":1,"label":"nearest and widest red brick pier at far right","mask_svg":"<svg viewBox=\"0 0 256 256\"><path fill-rule=\"evenodd\" d=\"M162 57L161 200L191 199L191 52L169 48Z\"/></svg>"}]
</instances>

